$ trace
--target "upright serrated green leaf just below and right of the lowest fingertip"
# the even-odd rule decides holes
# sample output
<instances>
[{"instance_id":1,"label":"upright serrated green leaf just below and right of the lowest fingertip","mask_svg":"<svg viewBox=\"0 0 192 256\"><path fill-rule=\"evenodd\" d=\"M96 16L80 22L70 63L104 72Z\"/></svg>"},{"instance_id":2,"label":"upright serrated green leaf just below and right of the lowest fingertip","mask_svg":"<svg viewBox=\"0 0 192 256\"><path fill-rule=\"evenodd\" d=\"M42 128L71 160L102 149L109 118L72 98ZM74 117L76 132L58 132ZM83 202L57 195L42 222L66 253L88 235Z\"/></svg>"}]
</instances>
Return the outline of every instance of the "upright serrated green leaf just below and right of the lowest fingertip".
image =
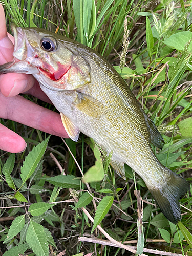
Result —
<instances>
[{"instance_id":1,"label":"upright serrated green leaf just below and right of the lowest fingertip","mask_svg":"<svg viewBox=\"0 0 192 256\"><path fill-rule=\"evenodd\" d=\"M31 177L41 157L44 155L50 136L35 146L25 158L23 166L20 168L23 184Z\"/></svg>"}]
</instances>

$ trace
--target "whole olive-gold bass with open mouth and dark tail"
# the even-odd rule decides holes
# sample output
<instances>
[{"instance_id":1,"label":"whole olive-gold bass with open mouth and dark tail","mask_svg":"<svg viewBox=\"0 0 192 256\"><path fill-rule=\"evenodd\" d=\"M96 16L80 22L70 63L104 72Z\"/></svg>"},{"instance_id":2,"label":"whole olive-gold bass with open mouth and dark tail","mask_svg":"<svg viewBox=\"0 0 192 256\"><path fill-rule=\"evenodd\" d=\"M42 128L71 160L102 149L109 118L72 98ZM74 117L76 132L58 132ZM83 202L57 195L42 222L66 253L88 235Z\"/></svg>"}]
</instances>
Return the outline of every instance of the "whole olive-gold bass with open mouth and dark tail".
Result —
<instances>
[{"instance_id":1,"label":"whole olive-gold bass with open mouth and dark tail","mask_svg":"<svg viewBox=\"0 0 192 256\"><path fill-rule=\"evenodd\" d=\"M127 83L100 54L70 38L40 28L12 26L13 60L1 73L32 74L60 112L69 137L91 137L107 153L111 166L125 178L124 164L144 180L164 216L181 220L179 198L189 183L163 166L151 144L164 140Z\"/></svg>"}]
</instances>

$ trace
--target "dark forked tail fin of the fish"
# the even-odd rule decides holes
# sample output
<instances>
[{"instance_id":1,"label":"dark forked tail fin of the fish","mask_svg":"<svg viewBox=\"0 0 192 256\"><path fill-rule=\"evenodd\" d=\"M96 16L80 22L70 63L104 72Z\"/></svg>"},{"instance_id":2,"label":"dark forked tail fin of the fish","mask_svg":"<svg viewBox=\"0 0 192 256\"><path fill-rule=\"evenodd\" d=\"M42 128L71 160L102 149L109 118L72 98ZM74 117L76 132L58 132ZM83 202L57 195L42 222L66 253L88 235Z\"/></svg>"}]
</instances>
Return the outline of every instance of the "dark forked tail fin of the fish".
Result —
<instances>
[{"instance_id":1,"label":"dark forked tail fin of the fish","mask_svg":"<svg viewBox=\"0 0 192 256\"><path fill-rule=\"evenodd\" d=\"M190 185L181 176L169 169L166 170L170 172L170 181L162 189L151 189L150 191L164 216L176 224L181 220L179 198L190 189Z\"/></svg>"}]
</instances>

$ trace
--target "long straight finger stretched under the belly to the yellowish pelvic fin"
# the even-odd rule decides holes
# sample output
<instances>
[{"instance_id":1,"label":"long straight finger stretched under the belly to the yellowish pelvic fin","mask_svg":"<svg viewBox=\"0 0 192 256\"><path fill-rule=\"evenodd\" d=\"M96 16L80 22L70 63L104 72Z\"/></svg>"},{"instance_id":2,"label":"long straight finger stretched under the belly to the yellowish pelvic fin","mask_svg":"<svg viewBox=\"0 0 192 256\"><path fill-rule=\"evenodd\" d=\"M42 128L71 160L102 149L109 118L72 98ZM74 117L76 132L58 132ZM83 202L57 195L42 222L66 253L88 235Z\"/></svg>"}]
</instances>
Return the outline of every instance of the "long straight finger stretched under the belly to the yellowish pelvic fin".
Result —
<instances>
[{"instance_id":1,"label":"long straight finger stretched under the belly to the yellowish pelvic fin","mask_svg":"<svg viewBox=\"0 0 192 256\"><path fill-rule=\"evenodd\" d=\"M12 98L0 93L0 117L13 120L35 129L69 138L58 113L42 108L42 106L17 95Z\"/></svg>"}]
</instances>

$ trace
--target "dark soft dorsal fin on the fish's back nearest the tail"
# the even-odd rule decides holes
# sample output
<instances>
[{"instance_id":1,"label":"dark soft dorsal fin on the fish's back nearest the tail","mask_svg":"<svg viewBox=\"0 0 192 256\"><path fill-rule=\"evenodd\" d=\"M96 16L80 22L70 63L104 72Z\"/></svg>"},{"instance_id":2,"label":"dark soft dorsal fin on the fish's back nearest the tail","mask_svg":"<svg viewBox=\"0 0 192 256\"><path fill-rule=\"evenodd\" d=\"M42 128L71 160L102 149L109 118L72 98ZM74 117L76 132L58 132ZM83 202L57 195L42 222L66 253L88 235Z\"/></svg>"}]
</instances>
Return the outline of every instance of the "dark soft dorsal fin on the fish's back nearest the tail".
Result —
<instances>
[{"instance_id":1,"label":"dark soft dorsal fin on the fish's back nearest the tail","mask_svg":"<svg viewBox=\"0 0 192 256\"><path fill-rule=\"evenodd\" d=\"M144 112L144 110L141 108L140 109L143 113L143 117L145 119L146 125L147 125L147 129L148 132L150 134L150 142L160 148L162 150L163 146L164 146L164 139L162 138L160 132L157 130L157 127L155 126L155 123L146 115L146 113Z\"/></svg>"}]
</instances>

